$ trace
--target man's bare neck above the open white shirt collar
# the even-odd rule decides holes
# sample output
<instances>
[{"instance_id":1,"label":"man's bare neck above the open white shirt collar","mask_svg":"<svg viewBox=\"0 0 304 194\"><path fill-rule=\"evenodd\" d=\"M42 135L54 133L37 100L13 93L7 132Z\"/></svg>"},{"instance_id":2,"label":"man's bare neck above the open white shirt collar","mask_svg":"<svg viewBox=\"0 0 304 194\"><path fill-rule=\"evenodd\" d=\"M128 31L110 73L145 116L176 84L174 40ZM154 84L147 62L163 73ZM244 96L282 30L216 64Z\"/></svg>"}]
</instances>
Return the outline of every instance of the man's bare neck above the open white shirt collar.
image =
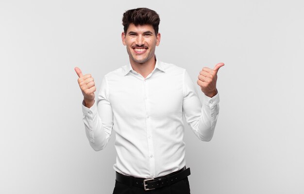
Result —
<instances>
[{"instance_id":1,"label":"man's bare neck above the open white shirt collar","mask_svg":"<svg viewBox=\"0 0 304 194\"><path fill-rule=\"evenodd\" d=\"M130 64L134 71L146 78L154 69L156 64L155 55L144 63L137 63L130 58Z\"/></svg>"}]
</instances>

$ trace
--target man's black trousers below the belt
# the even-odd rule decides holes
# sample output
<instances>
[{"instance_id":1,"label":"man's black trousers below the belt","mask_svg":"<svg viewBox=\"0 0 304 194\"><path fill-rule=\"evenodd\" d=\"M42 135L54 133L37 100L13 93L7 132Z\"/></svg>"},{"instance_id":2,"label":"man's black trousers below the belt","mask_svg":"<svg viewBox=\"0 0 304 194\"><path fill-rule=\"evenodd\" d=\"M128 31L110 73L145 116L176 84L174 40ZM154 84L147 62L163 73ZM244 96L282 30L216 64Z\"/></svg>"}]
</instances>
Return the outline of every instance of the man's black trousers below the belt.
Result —
<instances>
[{"instance_id":1,"label":"man's black trousers below the belt","mask_svg":"<svg viewBox=\"0 0 304 194\"><path fill-rule=\"evenodd\" d=\"M190 186L187 177L170 186L149 191L139 187L131 187L116 180L113 194L190 194Z\"/></svg>"}]
</instances>

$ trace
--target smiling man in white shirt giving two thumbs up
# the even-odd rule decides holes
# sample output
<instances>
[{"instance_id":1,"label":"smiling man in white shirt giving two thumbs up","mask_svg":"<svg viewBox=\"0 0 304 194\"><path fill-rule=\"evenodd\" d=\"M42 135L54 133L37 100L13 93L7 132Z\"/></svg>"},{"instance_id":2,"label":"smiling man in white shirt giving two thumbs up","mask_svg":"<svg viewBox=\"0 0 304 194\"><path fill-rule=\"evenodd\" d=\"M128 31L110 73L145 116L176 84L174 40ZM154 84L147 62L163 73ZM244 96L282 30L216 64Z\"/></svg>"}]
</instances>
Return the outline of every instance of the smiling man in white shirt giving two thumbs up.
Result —
<instances>
[{"instance_id":1,"label":"smiling man in white shirt giving two thumbs up","mask_svg":"<svg viewBox=\"0 0 304 194\"><path fill-rule=\"evenodd\" d=\"M95 102L94 79L78 67L84 96L87 138L96 151L116 131L116 184L113 194L189 194L185 167L183 114L200 140L210 141L219 114L217 72L204 67L195 86L184 68L159 61L154 54L161 35L158 14L147 8L123 14L122 43L130 64L106 74ZM149 190L149 191L148 191Z\"/></svg>"}]
</instances>

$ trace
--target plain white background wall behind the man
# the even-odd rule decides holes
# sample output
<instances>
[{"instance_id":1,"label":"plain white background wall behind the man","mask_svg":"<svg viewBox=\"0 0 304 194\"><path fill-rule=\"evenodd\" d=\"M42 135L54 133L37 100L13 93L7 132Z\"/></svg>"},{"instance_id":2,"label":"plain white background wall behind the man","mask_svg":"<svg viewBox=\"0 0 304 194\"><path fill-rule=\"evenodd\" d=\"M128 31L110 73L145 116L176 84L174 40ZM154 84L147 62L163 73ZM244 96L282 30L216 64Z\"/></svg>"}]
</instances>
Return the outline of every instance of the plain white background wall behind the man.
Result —
<instances>
[{"instance_id":1,"label":"plain white background wall behind the man","mask_svg":"<svg viewBox=\"0 0 304 194\"><path fill-rule=\"evenodd\" d=\"M113 192L115 134L89 146L74 67L99 88L126 65L121 18L136 7L160 15L158 58L195 84L225 63L213 140L185 123L191 193L303 194L302 0L0 0L0 193Z\"/></svg>"}]
</instances>

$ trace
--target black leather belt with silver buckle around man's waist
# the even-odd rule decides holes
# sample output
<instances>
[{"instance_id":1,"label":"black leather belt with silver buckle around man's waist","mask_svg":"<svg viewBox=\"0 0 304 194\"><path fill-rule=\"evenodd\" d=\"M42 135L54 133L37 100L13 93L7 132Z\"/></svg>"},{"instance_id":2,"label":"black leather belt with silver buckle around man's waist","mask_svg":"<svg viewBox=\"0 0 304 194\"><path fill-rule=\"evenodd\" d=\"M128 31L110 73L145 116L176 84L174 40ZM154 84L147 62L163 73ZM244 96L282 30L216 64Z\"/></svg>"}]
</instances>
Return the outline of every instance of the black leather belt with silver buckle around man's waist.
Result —
<instances>
[{"instance_id":1,"label":"black leather belt with silver buckle around man's waist","mask_svg":"<svg viewBox=\"0 0 304 194\"><path fill-rule=\"evenodd\" d=\"M158 178L134 178L131 176L125 176L116 172L116 180L126 185L132 185L135 187L143 188L145 191L157 189L164 186L169 186L175 182L178 182L190 175L190 168L186 169L186 166L179 171L170 173L169 175Z\"/></svg>"}]
</instances>

